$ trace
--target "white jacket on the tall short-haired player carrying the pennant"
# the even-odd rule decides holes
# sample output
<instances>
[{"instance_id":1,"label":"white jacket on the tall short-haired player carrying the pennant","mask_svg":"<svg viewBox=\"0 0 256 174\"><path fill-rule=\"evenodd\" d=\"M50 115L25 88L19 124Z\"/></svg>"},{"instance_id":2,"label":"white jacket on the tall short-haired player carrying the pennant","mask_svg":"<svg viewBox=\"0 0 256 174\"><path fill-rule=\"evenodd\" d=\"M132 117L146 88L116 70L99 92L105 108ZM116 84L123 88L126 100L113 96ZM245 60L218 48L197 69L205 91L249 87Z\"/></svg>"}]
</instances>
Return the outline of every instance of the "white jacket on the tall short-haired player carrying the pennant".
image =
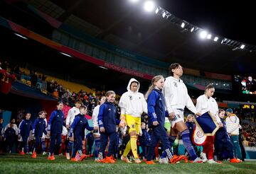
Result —
<instances>
[{"instance_id":1,"label":"white jacket on the tall short-haired player carrying the pennant","mask_svg":"<svg viewBox=\"0 0 256 174\"><path fill-rule=\"evenodd\" d=\"M186 106L188 110L196 114L196 107L193 105L188 95L188 89L181 79L175 79L173 76L167 77L164 82L163 93L169 113L174 112L174 109L184 109Z\"/></svg>"}]
</instances>

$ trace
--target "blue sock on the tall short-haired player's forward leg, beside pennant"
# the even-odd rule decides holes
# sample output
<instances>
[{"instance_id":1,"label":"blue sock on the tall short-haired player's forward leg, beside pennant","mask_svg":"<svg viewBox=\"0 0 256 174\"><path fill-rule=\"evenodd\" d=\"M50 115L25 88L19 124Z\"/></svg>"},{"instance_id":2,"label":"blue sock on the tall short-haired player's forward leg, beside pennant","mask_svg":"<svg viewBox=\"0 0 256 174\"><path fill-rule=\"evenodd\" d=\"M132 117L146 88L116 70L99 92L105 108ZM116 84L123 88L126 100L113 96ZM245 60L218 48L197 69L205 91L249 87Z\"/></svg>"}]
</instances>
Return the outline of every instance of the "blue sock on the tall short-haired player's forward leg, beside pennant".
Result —
<instances>
[{"instance_id":1,"label":"blue sock on the tall short-haired player's forward leg, beside pennant","mask_svg":"<svg viewBox=\"0 0 256 174\"><path fill-rule=\"evenodd\" d=\"M195 149L193 149L193 146L191 144L191 140L189 138L189 130L186 129L183 132L181 132L183 146L188 151L189 156L191 156L191 159L194 161L198 156L196 155Z\"/></svg>"}]
</instances>

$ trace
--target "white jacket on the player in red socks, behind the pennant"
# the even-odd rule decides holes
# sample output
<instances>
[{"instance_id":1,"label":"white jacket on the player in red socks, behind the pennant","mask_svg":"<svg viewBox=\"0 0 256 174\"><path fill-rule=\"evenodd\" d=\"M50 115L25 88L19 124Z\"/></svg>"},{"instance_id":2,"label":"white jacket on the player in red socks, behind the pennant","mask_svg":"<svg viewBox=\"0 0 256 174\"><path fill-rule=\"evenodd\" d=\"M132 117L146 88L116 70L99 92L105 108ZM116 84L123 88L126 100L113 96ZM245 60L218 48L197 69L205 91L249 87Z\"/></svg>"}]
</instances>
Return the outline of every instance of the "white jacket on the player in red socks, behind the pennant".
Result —
<instances>
[{"instance_id":1,"label":"white jacket on the player in red socks, behind the pennant","mask_svg":"<svg viewBox=\"0 0 256 174\"><path fill-rule=\"evenodd\" d=\"M200 95L196 99L196 110L198 110L201 115L210 111L210 114L215 117L215 120L221 123L220 117L218 116L218 104L214 98L207 98L205 94Z\"/></svg>"}]
</instances>

